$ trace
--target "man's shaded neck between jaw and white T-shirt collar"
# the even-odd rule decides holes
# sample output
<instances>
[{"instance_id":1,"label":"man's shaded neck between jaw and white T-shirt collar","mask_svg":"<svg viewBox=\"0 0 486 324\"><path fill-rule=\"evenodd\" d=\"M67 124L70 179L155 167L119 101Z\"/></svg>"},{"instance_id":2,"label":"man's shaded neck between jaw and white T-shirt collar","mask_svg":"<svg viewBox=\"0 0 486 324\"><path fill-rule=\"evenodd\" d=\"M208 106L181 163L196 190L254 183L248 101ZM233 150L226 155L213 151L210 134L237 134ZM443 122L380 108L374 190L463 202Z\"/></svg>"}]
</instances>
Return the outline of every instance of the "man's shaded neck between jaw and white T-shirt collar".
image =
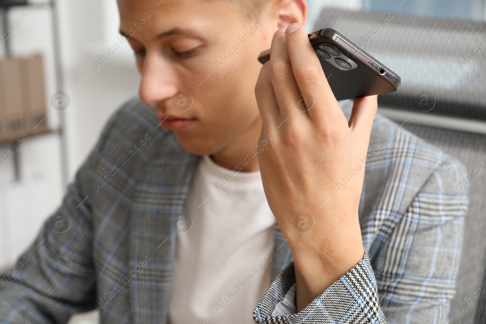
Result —
<instances>
[{"instance_id":1,"label":"man's shaded neck between jaw and white T-shirt collar","mask_svg":"<svg viewBox=\"0 0 486 324\"><path fill-rule=\"evenodd\" d=\"M225 147L221 151L211 155L216 164L233 170L241 170L242 172L259 171L260 165L258 164L257 155L251 154L257 152L255 146L258 143L261 131L261 119L260 116L250 125L250 127L237 139L235 139L229 147ZM251 157L251 158L250 158ZM239 167L238 167L239 166Z\"/></svg>"}]
</instances>

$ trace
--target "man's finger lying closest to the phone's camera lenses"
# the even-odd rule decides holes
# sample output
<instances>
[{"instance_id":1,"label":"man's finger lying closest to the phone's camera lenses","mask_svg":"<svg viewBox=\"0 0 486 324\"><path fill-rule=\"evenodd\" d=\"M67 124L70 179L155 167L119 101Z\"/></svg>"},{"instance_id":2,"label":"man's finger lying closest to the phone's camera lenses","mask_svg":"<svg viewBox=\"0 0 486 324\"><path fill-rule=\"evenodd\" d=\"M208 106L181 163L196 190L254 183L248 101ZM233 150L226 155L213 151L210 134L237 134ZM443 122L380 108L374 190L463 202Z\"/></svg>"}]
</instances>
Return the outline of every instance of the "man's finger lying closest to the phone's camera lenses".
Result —
<instances>
[{"instance_id":1,"label":"man's finger lying closest to the phone's camera lenses","mask_svg":"<svg viewBox=\"0 0 486 324\"><path fill-rule=\"evenodd\" d=\"M303 26L298 28L298 26L295 23L287 27L285 39L300 92L308 92L314 99L315 108L308 111L309 116L315 121L321 118L334 119L333 121L344 118L346 121L305 28Z\"/></svg>"}]
</instances>

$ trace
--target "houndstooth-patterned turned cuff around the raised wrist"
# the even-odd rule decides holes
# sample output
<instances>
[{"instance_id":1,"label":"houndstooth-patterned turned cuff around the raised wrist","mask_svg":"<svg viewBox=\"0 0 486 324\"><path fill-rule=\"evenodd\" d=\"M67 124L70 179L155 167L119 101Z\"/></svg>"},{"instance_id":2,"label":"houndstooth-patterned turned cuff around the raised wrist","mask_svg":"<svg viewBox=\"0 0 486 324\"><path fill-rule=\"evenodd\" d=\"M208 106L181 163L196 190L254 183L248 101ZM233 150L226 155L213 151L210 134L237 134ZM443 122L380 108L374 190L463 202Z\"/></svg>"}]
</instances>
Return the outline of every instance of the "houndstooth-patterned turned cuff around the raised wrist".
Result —
<instances>
[{"instance_id":1,"label":"houndstooth-patterned turned cuff around the raised wrist","mask_svg":"<svg viewBox=\"0 0 486 324\"><path fill-rule=\"evenodd\" d=\"M273 310L294 283L294 262L291 262L278 275L253 311L255 323L385 323L379 306L375 276L366 250L357 265L302 311L292 315L272 316Z\"/></svg>"}]
</instances>

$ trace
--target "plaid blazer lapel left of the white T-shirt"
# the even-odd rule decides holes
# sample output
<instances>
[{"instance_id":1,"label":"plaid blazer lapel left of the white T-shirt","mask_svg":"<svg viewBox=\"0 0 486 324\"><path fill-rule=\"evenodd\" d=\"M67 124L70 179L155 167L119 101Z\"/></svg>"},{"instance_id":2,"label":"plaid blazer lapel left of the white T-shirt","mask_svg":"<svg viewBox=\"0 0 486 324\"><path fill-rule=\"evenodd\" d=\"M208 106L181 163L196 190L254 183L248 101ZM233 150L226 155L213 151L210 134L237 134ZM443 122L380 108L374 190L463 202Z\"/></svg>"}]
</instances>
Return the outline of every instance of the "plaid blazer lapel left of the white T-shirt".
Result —
<instances>
[{"instance_id":1,"label":"plaid blazer lapel left of the white T-shirt","mask_svg":"<svg viewBox=\"0 0 486 324\"><path fill-rule=\"evenodd\" d=\"M184 201L198 156L184 151L173 133L150 142L146 164L134 182L129 270L132 323L167 323L175 255L175 220Z\"/></svg>"}]
</instances>

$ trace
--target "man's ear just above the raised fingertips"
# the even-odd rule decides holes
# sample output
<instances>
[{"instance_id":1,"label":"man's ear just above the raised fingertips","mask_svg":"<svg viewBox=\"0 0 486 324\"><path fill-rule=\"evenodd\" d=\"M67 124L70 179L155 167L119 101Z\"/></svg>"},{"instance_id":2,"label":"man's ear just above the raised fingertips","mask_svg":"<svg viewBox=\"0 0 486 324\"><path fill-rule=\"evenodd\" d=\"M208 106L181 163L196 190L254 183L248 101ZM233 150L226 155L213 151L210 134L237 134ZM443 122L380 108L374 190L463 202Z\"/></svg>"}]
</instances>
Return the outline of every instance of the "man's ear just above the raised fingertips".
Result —
<instances>
[{"instance_id":1,"label":"man's ear just above the raised fingertips","mask_svg":"<svg viewBox=\"0 0 486 324\"><path fill-rule=\"evenodd\" d=\"M307 22L306 0L273 0L272 9L276 14L277 28L287 28L295 22L305 25Z\"/></svg>"}]
</instances>

